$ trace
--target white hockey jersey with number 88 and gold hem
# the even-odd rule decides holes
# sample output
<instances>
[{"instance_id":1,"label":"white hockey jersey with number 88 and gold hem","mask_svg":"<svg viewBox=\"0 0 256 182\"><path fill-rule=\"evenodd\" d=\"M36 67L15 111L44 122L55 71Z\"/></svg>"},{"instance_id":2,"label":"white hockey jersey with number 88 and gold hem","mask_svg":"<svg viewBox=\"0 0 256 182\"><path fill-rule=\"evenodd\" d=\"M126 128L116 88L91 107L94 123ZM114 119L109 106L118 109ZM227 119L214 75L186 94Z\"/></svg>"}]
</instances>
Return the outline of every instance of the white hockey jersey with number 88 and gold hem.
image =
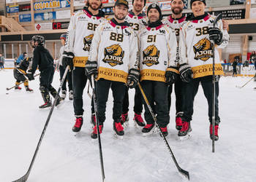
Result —
<instances>
[{"instance_id":1,"label":"white hockey jersey with number 88 and gold hem","mask_svg":"<svg viewBox=\"0 0 256 182\"><path fill-rule=\"evenodd\" d=\"M90 61L98 63L98 79L127 84L129 68L138 68L138 39L125 25L112 20L99 24L91 43Z\"/></svg>"}]
</instances>

